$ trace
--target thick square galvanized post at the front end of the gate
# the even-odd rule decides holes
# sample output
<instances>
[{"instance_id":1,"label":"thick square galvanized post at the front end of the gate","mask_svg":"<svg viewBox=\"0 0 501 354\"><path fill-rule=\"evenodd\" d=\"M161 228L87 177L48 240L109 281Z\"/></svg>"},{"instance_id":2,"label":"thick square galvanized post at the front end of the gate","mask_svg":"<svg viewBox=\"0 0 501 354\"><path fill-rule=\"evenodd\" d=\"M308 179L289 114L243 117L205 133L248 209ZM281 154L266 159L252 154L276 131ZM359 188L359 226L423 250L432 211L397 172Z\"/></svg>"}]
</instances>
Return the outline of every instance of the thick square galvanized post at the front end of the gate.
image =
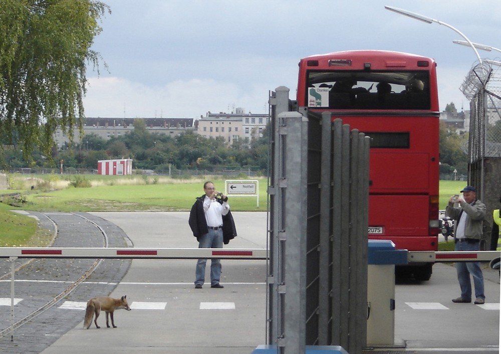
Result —
<instances>
[{"instance_id":1,"label":"thick square galvanized post at the front end of the gate","mask_svg":"<svg viewBox=\"0 0 501 354\"><path fill-rule=\"evenodd\" d=\"M279 260L284 263L279 279L283 301L284 354L305 352L306 347L306 216L308 119L299 112L279 115L287 129L285 153L284 233Z\"/></svg>"}]
</instances>

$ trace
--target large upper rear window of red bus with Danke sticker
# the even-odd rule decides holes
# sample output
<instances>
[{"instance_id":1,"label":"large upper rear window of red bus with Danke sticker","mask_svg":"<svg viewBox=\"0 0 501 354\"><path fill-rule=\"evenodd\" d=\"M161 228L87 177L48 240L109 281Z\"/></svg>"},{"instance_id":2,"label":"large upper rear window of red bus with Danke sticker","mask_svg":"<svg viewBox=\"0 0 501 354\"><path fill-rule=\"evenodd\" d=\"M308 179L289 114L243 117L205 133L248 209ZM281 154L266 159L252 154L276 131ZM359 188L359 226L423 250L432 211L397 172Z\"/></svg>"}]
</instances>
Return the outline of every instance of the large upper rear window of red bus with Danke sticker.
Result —
<instances>
[{"instance_id":1,"label":"large upper rear window of red bus with Danke sticker","mask_svg":"<svg viewBox=\"0 0 501 354\"><path fill-rule=\"evenodd\" d=\"M428 71L308 72L308 107L328 109L430 109Z\"/></svg>"}]
</instances>

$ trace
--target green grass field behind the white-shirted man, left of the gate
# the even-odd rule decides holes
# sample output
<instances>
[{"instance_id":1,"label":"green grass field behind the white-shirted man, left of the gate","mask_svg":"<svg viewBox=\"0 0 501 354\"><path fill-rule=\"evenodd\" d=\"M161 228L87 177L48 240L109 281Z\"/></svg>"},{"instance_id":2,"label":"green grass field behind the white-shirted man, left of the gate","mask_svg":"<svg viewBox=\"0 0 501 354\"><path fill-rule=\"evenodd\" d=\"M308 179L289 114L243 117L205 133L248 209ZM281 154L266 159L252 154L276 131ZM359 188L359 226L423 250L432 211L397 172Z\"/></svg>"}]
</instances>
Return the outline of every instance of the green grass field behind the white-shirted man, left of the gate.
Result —
<instances>
[{"instance_id":1,"label":"green grass field behind the white-shirted man, left of the gate","mask_svg":"<svg viewBox=\"0 0 501 354\"><path fill-rule=\"evenodd\" d=\"M34 211L184 211L190 210L195 197L203 194L205 179L175 180L155 176L79 176L91 187L75 188L74 181L52 176L35 176L26 181L19 175L11 176L15 191L23 193L19 208ZM109 178L109 177L114 177ZM210 178L215 187L224 192L225 181ZM236 179L232 179L235 181ZM256 179L253 179L256 180ZM267 179L258 180L259 207L257 197L231 197L233 211L266 211ZM32 189L31 186L34 186ZM5 191L5 193L13 191ZM0 191L2 193L2 191Z\"/></svg>"}]
</instances>

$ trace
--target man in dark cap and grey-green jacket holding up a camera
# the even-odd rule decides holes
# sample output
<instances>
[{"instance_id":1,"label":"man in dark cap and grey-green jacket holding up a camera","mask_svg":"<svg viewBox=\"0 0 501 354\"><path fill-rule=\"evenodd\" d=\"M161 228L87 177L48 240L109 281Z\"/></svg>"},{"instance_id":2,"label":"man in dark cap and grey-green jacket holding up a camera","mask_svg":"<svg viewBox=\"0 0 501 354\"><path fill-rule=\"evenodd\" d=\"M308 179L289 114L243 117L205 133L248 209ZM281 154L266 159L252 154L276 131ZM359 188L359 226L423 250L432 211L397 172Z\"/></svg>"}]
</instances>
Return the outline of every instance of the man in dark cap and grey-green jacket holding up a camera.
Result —
<instances>
[{"instance_id":1,"label":"man in dark cap and grey-green jacket holding up a camera","mask_svg":"<svg viewBox=\"0 0 501 354\"><path fill-rule=\"evenodd\" d=\"M483 218L485 217L485 204L476 199L476 189L466 186L462 189L462 198L452 196L445 209L445 215L456 220L454 223L455 251L479 251L480 238L483 235ZM454 208L454 203L458 204ZM483 274L480 262L457 262L457 280L461 288L461 296L452 299L452 302L471 302L471 281L473 277L475 286L475 301L479 305L485 302L483 293Z\"/></svg>"}]
</instances>

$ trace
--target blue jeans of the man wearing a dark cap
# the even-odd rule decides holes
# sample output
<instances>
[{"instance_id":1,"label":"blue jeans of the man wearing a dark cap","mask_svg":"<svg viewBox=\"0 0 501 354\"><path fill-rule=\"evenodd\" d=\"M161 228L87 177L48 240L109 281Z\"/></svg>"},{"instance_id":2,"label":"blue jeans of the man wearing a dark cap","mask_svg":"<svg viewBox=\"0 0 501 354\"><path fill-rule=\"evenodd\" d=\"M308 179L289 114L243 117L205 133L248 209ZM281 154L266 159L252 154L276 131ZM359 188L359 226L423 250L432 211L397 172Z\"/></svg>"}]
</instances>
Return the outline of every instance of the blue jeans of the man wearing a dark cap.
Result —
<instances>
[{"instance_id":1,"label":"blue jeans of the man wearing a dark cap","mask_svg":"<svg viewBox=\"0 0 501 354\"><path fill-rule=\"evenodd\" d=\"M468 243L457 242L455 251L478 251L480 249L480 242ZM480 268L480 262L457 262L456 263L457 280L461 288L461 297L463 299L471 299L471 281L470 274L473 277L473 284L475 285L475 298L485 299L483 293L483 275Z\"/></svg>"}]
</instances>

